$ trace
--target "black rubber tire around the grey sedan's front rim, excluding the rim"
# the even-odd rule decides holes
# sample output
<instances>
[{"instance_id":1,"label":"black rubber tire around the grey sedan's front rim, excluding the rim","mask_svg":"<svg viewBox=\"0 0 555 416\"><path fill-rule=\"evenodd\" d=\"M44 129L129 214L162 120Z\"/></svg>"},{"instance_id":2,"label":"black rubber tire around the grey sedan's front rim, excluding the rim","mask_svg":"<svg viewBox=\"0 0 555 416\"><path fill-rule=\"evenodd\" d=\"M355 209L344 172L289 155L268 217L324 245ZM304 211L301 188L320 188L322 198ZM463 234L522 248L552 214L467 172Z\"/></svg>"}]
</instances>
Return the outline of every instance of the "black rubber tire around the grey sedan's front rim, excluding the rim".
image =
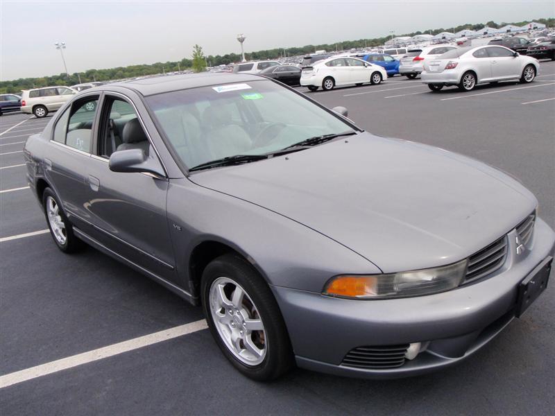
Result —
<instances>
[{"instance_id":1,"label":"black rubber tire around the grey sedan's front rim, excluding the rim","mask_svg":"<svg viewBox=\"0 0 555 416\"><path fill-rule=\"evenodd\" d=\"M221 339L210 311L210 286L218 277L228 277L241 285L255 303L262 322L268 345L266 356L259 365L249 366L237 359ZM210 332L223 355L245 376L257 381L270 381L287 372L293 363L291 343L278 303L259 273L241 257L224 254L210 262L200 284L203 312Z\"/></svg>"}]
</instances>

